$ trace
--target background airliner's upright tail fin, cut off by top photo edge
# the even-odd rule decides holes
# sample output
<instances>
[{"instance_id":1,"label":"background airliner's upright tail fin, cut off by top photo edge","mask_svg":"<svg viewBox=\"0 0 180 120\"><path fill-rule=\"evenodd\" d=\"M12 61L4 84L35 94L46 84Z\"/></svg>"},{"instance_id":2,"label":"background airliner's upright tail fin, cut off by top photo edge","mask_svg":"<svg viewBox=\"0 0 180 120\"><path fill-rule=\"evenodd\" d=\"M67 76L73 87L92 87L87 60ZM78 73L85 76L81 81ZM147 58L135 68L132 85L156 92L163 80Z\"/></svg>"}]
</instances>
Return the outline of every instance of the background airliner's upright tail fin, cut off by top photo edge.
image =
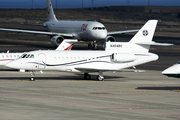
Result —
<instances>
[{"instance_id":1,"label":"background airliner's upright tail fin, cut off by top photo edge","mask_svg":"<svg viewBox=\"0 0 180 120\"><path fill-rule=\"evenodd\" d=\"M57 21L52 7L51 0L46 0L48 21Z\"/></svg>"}]
</instances>

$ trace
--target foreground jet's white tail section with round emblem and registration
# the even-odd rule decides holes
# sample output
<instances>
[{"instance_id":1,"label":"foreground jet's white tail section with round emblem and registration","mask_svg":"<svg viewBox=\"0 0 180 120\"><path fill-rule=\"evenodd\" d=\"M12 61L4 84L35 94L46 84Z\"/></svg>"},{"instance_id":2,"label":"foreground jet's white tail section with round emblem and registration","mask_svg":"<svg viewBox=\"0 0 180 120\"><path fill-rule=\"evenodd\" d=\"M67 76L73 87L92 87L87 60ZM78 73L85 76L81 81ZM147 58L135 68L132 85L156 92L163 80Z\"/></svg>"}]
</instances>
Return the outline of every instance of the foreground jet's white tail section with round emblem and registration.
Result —
<instances>
[{"instance_id":1,"label":"foreground jet's white tail section with round emblem and registration","mask_svg":"<svg viewBox=\"0 0 180 120\"><path fill-rule=\"evenodd\" d=\"M149 52L150 45L170 46L173 44L152 41L158 20L149 20L129 42L106 42L106 51Z\"/></svg>"}]
</instances>

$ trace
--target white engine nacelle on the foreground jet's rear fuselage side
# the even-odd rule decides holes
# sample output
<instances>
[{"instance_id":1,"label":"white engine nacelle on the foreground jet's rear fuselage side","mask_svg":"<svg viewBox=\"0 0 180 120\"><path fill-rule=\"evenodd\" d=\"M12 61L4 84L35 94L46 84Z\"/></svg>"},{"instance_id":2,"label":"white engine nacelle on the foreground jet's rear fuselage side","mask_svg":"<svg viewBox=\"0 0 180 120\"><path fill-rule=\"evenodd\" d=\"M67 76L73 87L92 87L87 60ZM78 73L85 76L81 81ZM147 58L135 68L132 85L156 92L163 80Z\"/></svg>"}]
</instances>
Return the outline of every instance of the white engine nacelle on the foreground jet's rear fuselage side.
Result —
<instances>
[{"instance_id":1,"label":"white engine nacelle on the foreground jet's rear fuselage side","mask_svg":"<svg viewBox=\"0 0 180 120\"><path fill-rule=\"evenodd\" d=\"M113 53L111 56L111 60L117 63L133 62L136 59L137 56L134 54Z\"/></svg>"}]
</instances>

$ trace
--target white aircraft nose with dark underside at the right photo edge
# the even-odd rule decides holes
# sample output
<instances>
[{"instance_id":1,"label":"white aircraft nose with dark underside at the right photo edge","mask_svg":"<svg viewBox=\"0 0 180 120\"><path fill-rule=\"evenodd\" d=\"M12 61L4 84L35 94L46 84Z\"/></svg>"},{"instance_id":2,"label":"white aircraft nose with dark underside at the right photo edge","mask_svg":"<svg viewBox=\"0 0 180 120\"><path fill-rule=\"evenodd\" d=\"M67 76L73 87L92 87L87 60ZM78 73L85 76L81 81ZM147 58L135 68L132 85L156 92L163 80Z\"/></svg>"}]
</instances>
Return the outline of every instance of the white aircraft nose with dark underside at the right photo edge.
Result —
<instances>
[{"instance_id":1,"label":"white aircraft nose with dark underside at the right photo edge","mask_svg":"<svg viewBox=\"0 0 180 120\"><path fill-rule=\"evenodd\" d=\"M168 77L180 78L180 61L162 71L162 74Z\"/></svg>"}]
</instances>

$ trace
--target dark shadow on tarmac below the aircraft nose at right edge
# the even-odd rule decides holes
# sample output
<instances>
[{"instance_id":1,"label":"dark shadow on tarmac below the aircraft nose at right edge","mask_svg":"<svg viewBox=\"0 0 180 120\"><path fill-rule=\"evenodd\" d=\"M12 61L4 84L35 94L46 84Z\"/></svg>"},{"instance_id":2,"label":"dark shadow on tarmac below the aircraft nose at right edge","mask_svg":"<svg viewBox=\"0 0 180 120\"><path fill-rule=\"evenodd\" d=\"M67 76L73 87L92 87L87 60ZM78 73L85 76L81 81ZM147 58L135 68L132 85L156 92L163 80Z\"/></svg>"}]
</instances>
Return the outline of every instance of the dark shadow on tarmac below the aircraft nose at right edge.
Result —
<instances>
[{"instance_id":1,"label":"dark shadow on tarmac below the aircraft nose at right edge","mask_svg":"<svg viewBox=\"0 0 180 120\"><path fill-rule=\"evenodd\" d=\"M180 86L138 87L140 90L180 90Z\"/></svg>"}]
</instances>

